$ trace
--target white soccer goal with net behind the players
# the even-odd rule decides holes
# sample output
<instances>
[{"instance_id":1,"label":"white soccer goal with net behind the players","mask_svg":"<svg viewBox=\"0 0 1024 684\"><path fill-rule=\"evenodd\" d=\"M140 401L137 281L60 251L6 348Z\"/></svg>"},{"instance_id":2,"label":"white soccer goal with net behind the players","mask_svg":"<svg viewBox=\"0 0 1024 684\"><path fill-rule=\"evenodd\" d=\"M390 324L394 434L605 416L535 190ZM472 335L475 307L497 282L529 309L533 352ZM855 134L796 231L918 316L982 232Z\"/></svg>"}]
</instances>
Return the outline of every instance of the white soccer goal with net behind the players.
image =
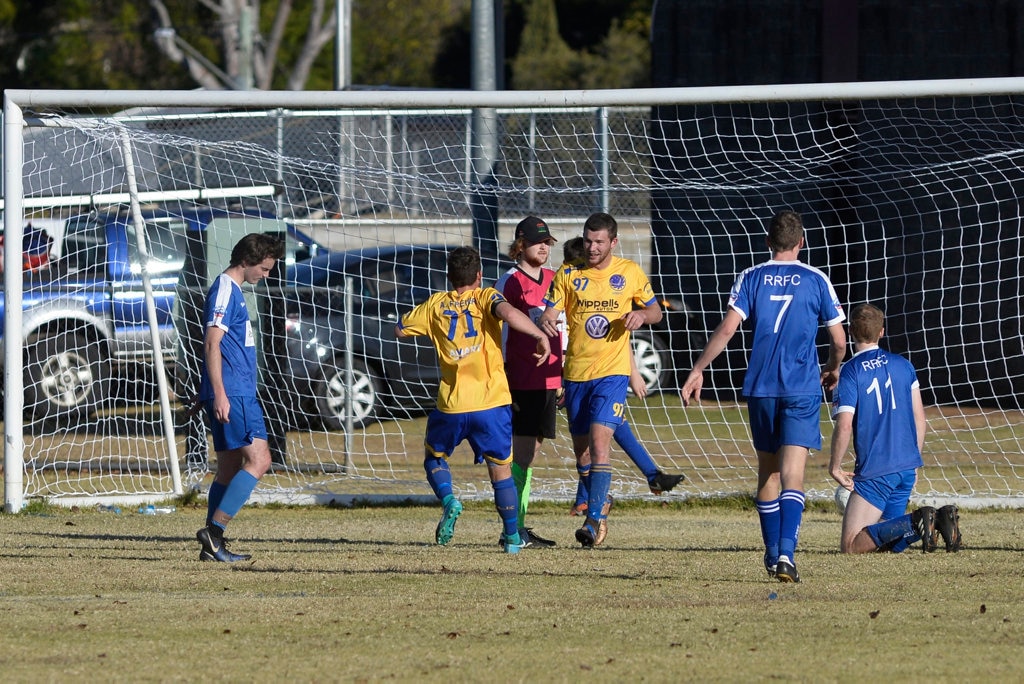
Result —
<instances>
[{"instance_id":1,"label":"white soccer goal with net behind the players","mask_svg":"<svg viewBox=\"0 0 1024 684\"><path fill-rule=\"evenodd\" d=\"M620 222L618 253L668 308L635 337L652 388L628 418L668 496L746 495L756 481L738 395L746 339L712 367L700 405L676 387L737 272L768 257L766 221L804 215L803 259L845 305L887 312L916 366L929 433L919 498L1024 503L1021 216L1024 81L592 92L7 91L4 108L4 486L31 499L155 501L210 481L187 412L200 309L246 232L287 258L250 292L272 471L257 499L429 495L434 352L397 317L445 287L446 249L485 277L523 216L560 246ZM17 246L22 246L18 251ZM823 352L824 347L822 347ZM830 496L823 452L812 497ZM466 498L490 497L468 445ZM651 497L621 453L613 491ZM564 419L534 498L568 502Z\"/></svg>"}]
</instances>

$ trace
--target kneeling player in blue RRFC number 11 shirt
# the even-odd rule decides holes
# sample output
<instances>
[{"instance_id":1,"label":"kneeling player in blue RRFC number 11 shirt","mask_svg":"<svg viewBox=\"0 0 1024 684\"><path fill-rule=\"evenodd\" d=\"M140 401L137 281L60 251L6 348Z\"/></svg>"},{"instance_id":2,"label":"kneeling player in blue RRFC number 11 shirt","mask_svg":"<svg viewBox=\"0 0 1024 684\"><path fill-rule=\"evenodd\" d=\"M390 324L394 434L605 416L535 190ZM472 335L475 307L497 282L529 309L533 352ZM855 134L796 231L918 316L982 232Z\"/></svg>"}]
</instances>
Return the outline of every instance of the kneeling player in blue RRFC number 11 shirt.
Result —
<instances>
[{"instance_id":1,"label":"kneeling player in blue RRFC number 11 shirt","mask_svg":"<svg viewBox=\"0 0 1024 684\"><path fill-rule=\"evenodd\" d=\"M906 512L924 461L925 408L913 366L879 346L885 314L870 304L850 312L854 355L843 365L833 400L831 459L828 472L853 494L843 514L843 553L892 551L922 543L936 548L936 532L946 551L961 548L959 512L953 505L937 512L923 506ZM843 470L843 457L853 440L853 472Z\"/></svg>"}]
</instances>

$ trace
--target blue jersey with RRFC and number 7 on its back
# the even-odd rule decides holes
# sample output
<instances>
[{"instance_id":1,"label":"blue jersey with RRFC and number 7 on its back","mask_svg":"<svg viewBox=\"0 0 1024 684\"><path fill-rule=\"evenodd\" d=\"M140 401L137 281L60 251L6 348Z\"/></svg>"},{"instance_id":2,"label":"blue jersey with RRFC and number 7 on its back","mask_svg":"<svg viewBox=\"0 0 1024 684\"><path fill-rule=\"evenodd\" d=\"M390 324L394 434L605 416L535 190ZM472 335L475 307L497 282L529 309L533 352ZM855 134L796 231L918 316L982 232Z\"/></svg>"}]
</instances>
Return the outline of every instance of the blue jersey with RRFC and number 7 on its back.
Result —
<instances>
[{"instance_id":1,"label":"blue jersey with RRFC and number 7 on its back","mask_svg":"<svg viewBox=\"0 0 1024 684\"><path fill-rule=\"evenodd\" d=\"M766 261L736 277L729 306L754 331L744 396L821 393L818 326L846 319L828 276L800 261Z\"/></svg>"}]
</instances>

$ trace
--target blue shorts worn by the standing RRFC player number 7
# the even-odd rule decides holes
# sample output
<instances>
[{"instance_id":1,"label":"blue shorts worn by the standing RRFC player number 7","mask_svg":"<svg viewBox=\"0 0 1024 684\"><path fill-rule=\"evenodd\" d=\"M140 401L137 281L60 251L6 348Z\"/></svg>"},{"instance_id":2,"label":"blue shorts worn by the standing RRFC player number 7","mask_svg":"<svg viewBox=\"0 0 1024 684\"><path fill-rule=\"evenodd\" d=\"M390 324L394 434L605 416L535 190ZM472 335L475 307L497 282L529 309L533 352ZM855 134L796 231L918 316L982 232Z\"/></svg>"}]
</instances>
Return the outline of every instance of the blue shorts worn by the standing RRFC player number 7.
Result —
<instances>
[{"instance_id":1,"label":"blue shorts worn by the standing RRFC player number 7","mask_svg":"<svg viewBox=\"0 0 1024 684\"><path fill-rule=\"evenodd\" d=\"M751 437L754 448L774 454L782 446L821 448L821 396L752 396Z\"/></svg>"}]
</instances>

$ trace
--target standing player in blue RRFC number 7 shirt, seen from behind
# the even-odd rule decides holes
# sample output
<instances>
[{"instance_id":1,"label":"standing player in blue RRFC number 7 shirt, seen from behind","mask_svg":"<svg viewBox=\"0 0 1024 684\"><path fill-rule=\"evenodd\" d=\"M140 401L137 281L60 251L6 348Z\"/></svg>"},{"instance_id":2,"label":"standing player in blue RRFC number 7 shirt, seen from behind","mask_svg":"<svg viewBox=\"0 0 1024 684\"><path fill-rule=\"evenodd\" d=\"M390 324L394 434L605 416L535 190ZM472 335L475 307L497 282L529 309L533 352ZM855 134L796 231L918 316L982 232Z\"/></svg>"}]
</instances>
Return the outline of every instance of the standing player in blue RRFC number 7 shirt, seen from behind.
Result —
<instances>
[{"instance_id":1,"label":"standing player in blue RRFC number 7 shirt, seen from behind","mask_svg":"<svg viewBox=\"0 0 1024 684\"><path fill-rule=\"evenodd\" d=\"M821 448L821 388L839 381L846 354L845 315L828 276L799 260L803 220L780 211L768 228L770 260L743 270L729 293L728 310L712 333L681 391L700 400L703 370L726 348L743 322L753 329L743 378L751 435L758 455L755 506L765 545L764 565L779 582L800 582L795 552L804 516L804 468ZM815 346L823 324L831 344L819 371Z\"/></svg>"}]
</instances>

